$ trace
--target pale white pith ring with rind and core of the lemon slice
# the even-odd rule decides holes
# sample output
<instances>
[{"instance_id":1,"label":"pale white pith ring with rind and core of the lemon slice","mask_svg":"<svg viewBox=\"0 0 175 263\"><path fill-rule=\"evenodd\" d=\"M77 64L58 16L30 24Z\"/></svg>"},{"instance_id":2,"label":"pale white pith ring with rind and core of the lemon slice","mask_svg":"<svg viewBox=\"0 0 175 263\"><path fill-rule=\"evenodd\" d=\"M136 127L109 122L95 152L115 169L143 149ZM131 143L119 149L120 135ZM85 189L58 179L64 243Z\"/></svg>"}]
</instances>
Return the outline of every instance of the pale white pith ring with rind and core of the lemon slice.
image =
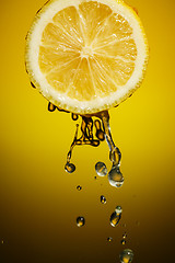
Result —
<instances>
[{"instance_id":1,"label":"pale white pith ring with rind and core of the lemon slice","mask_svg":"<svg viewBox=\"0 0 175 263\"><path fill-rule=\"evenodd\" d=\"M71 99L67 94L59 93L59 91L51 88L51 85L47 82L39 68L38 55L43 31L48 23L52 22L52 18L60 10L70 5L74 5L78 9L79 4L82 2L84 2L84 0L54 0L48 5L44 7L43 12L38 13L38 18L35 20L27 36L26 67L28 68L28 71L32 70L33 76L31 76L31 78L39 85L38 89L47 100L63 110L69 110L74 113L93 113L107 110L122 101L127 94L132 93L143 77L143 69L148 60L148 45L145 43L142 27L140 26L140 20L136 19L136 14L133 12L130 12L130 8L126 8L124 2L120 0L97 0L96 2L108 5L114 12L124 16L133 30L132 37L135 39L138 54L132 76L125 85L120 87L116 92L113 92L113 94L105 98L97 96L91 101L79 101ZM91 47L86 47L81 56L89 56L92 52Z\"/></svg>"}]
</instances>

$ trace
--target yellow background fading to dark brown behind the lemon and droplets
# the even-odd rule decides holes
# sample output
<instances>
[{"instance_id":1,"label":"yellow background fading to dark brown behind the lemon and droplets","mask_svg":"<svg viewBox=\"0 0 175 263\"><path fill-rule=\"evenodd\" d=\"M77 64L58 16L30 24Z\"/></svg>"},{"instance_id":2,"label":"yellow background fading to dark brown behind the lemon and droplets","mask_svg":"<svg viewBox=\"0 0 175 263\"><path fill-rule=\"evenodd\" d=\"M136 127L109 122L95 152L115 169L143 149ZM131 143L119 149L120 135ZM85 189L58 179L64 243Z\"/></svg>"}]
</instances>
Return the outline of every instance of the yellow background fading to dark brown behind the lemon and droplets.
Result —
<instances>
[{"instance_id":1,"label":"yellow background fading to dark brown behind the lemon and droplets","mask_svg":"<svg viewBox=\"0 0 175 263\"><path fill-rule=\"evenodd\" d=\"M175 2L127 1L139 10L151 55L142 87L109 112L122 153L125 184L119 190L107 176L94 180L97 161L110 165L105 142L77 147L77 171L63 170L75 123L70 114L47 111L47 101L31 88L24 68L25 35L44 2L0 2L0 262L117 263L124 248L133 250L135 263L173 262ZM112 228L116 205L124 213L120 225ZM75 226L77 216L85 217L83 228ZM112 243L106 241L109 236Z\"/></svg>"}]
</instances>

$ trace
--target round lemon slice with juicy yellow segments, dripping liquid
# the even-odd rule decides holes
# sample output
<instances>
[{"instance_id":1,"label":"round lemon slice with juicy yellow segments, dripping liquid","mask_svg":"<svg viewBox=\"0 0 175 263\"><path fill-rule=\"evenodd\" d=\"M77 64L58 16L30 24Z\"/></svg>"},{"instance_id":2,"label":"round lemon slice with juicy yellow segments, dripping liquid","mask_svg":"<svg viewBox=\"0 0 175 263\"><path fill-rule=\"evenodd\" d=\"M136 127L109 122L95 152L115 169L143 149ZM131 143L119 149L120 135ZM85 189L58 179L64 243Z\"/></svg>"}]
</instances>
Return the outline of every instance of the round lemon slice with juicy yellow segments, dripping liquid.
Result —
<instances>
[{"instance_id":1,"label":"round lemon slice with juicy yellow segments, dripping liquid","mask_svg":"<svg viewBox=\"0 0 175 263\"><path fill-rule=\"evenodd\" d=\"M56 106L93 114L142 82L148 42L137 13L121 0L52 0L26 37L31 81Z\"/></svg>"}]
</instances>

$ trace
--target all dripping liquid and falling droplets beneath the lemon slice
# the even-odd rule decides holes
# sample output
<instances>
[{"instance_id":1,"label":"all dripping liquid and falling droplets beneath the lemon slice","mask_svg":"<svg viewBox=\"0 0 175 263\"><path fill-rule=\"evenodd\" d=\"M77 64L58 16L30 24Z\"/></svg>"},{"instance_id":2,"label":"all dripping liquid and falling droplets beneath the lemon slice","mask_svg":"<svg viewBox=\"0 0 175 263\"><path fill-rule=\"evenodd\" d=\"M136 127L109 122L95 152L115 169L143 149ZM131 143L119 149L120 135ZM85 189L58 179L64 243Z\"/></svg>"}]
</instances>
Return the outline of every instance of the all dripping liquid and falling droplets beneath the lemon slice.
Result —
<instances>
[{"instance_id":1,"label":"all dripping liquid and falling droplets beneath the lemon slice","mask_svg":"<svg viewBox=\"0 0 175 263\"><path fill-rule=\"evenodd\" d=\"M58 111L63 111L63 110L58 108L57 106L55 106L52 103L49 102L48 111L54 112L56 108ZM67 112L67 111L63 111L63 112ZM73 121L77 121L79 118L79 115L72 113L71 117ZM105 112L104 114L100 115L100 118L102 121L102 125L101 125L100 119L94 121L94 126L96 128L95 136L96 136L97 140L93 138L93 121L91 117L82 116L82 125L81 125L82 136L79 139L78 139L79 125L77 124L77 132L74 135L73 142L71 144L70 150L67 156L67 163L65 165L65 170L68 173L72 173L75 171L75 165L70 162L71 156L72 156L72 150L75 145L91 145L91 146L96 147L100 145L100 141L103 141L104 139L106 139L108 147L109 147L109 160L112 161L112 169L109 172L107 172L106 164L104 162L97 162L95 164L95 171L98 176L105 176L108 173L109 184L115 187L120 187L124 184L124 176L119 169L121 153L120 153L119 149L115 146L113 138L112 138L108 112ZM101 126L103 126L103 129ZM96 176L94 176L94 179L96 179ZM81 191L82 186L78 185L77 190ZM104 195L101 195L100 199L101 199L101 204L106 204L106 197ZM116 209L112 213L110 218L109 218L109 222L110 222L112 227L116 227L119 224L119 221L121 219L121 213L122 213L122 208L120 206L117 206ZM84 225L85 225L84 217L79 216L77 218L77 226L79 228L81 228ZM127 238L127 235L125 232L122 235L121 244L126 244L126 238ZM113 238L108 237L107 241L112 242ZM125 249L119 254L119 259L120 259L120 263L131 263L132 259L133 259L133 252L129 249Z\"/></svg>"}]
</instances>

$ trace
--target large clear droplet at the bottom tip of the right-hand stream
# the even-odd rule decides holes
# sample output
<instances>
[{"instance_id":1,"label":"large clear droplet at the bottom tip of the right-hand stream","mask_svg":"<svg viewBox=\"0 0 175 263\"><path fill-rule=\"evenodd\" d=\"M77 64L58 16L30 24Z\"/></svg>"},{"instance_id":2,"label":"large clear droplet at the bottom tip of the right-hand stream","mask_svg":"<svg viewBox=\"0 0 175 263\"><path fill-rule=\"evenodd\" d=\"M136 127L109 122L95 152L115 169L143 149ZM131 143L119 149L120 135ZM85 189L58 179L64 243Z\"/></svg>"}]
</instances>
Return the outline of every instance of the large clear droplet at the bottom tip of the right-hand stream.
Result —
<instances>
[{"instance_id":1,"label":"large clear droplet at the bottom tip of the right-hand stream","mask_svg":"<svg viewBox=\"0 0 175 263\"><path fill-rule=\"evenodd\" d=\"M108 173L108 181L112 186L120 187L124 184L122 173L118 167L113 167Z\"/></svg>"}]
</instances>

